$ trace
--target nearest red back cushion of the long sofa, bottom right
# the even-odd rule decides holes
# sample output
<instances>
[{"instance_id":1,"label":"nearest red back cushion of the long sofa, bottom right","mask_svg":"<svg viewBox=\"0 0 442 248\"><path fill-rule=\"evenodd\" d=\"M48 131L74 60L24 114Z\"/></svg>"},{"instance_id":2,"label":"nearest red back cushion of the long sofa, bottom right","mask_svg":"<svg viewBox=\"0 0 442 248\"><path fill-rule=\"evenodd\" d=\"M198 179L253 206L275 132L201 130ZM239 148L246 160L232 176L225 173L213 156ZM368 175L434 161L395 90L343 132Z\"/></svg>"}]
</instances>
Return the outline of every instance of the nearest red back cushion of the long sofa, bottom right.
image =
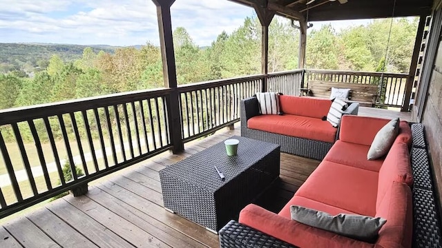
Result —
<instances>
[{"instance_id":1,"label":"nearest red back cushion of the long sofa, bottom right","mask_svg":"<svg viewBox=\"0 0 442 248\"><path fill-rule=\"evenodd\" d=\"M391 182L376 211L387 223L379 230L376 245L380 247L412 247L413 203L410 187Z\"/></svg>"}]
</instances>

